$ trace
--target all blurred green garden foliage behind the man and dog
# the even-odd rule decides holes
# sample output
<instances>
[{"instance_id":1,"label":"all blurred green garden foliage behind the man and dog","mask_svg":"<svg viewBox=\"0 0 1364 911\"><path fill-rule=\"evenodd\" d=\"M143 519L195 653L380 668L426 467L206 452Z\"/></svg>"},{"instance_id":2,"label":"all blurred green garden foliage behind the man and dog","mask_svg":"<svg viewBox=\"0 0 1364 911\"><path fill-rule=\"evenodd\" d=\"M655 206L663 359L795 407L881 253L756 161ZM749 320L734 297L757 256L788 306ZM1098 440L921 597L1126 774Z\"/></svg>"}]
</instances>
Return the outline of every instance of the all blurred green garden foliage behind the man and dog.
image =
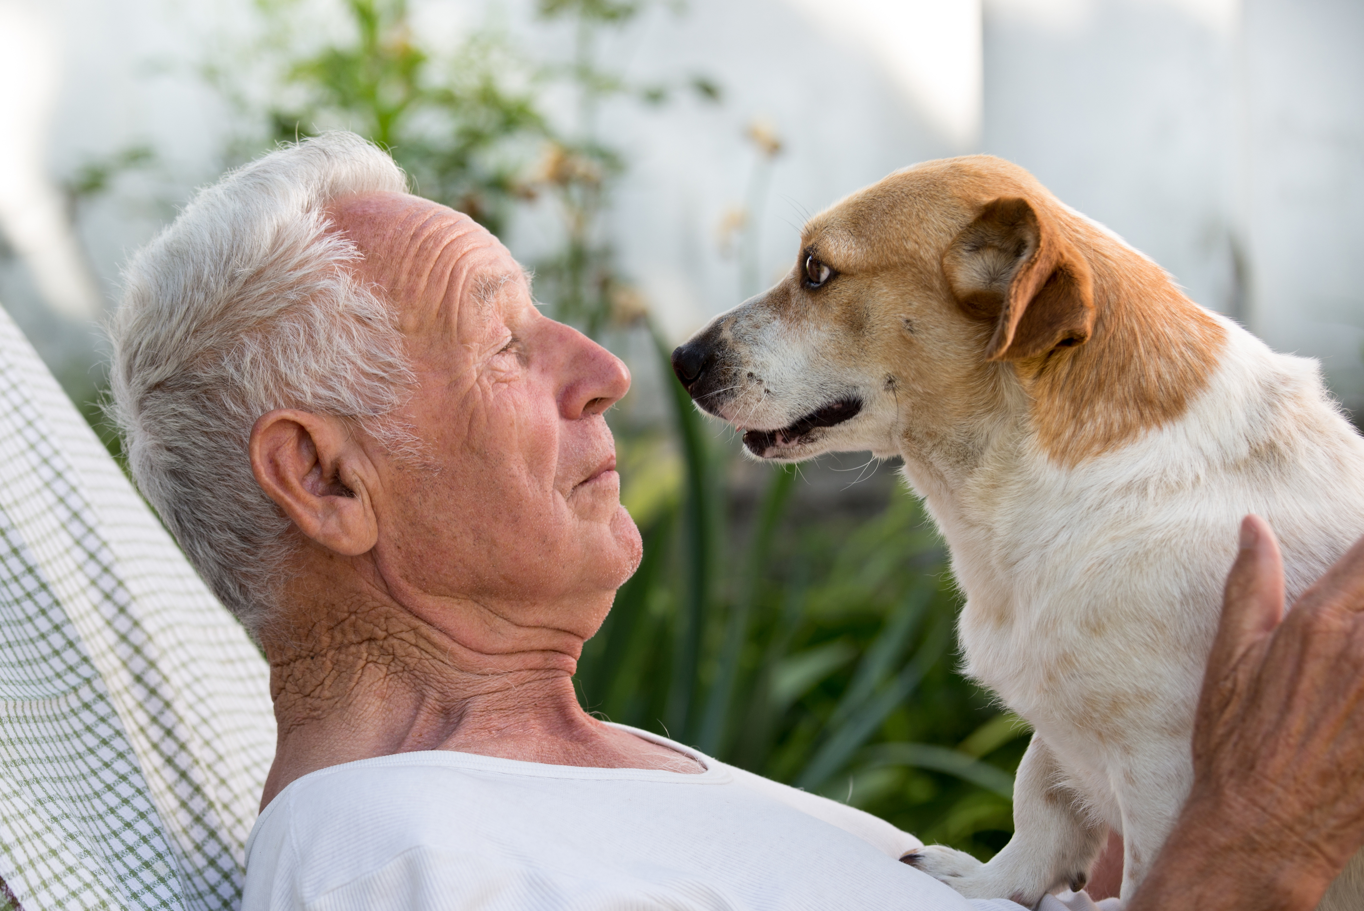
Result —
<instances>
[{"instance_id":1,"label":"all blurred green garden foliage behind the man and dog","mask_svg":"<svg viewBox=\"0 0 1364 911\"><path fill-rule=\"evenodd\" d=\"M630 29L649 0L539 0L539 27L566 38L561 59L492 26L434 53L415 40L405 0L338 0L349 37L310 45L299 0L256 3L270 27L250 53L273 61L274 79L263 109L235 94L231 64L203 67L255 124L240 160L341 127L389 150L416 192L495 233L518 207L550 203L555 240L528 263L537 299L632 363L636 401L610 417L644 561L585 648L584 706L926 841L981 858L1003 847L1027 731L958 672L959 596L919 503L872 462L855 469L855 480L873 475L872 495L857 498L829 495L848 484L829 481L828 466L743 462L672 379L648 301L617 265L606 215L630 162L600 135L600 109L678 93L724 102L705 75L633 85L603 68L599 40ZM757 215L783 153L764 123L747 139L749 191L719 239L739 259L738 297L760 289Z\"/></svg>"}]
</instances>

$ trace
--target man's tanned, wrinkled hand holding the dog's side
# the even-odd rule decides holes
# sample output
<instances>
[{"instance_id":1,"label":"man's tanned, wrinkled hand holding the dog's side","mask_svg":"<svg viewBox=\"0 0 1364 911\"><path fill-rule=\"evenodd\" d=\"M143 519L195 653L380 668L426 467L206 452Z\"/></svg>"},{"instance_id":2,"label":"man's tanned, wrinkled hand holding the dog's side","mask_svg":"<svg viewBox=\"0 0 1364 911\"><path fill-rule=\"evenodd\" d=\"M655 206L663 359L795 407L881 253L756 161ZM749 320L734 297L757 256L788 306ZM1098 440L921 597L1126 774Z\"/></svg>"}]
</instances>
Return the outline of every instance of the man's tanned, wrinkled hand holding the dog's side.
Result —
<instances>
[{"instance_id":1,"label":"man's tanned, wrinkled hand holding the dog's side","mask_svg":"<svg viewBox=\"0 0 1364 911\"><path fill-rule=\"evenodd\" d=\"M1194 730L1194 788L1128 911L1316 907L1364 844L1364 540L1284 615L1247 516Z\"/></svg>"}]
</instances>

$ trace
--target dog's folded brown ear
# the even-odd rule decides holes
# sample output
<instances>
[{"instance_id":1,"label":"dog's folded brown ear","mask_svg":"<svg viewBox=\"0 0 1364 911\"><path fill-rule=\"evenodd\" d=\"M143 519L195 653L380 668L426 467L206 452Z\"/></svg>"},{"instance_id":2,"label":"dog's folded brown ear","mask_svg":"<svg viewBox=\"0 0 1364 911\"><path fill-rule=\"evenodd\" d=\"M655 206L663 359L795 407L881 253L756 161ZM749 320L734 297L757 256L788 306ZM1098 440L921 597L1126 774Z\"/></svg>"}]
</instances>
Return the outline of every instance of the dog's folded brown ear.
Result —
<instances>
[{"instance_id":1,"label":"dog's folded brown ear","mask_svg":"<svg viewBox=\"0 0 1364 911\"><path fill-rule=\"evenodd\" d=\"M1035 357L1094 330L1088 263L1027 199L986 203L943 254L943 271L962 310L994 323L986 360Z\"/></svg>"}]
</instances>

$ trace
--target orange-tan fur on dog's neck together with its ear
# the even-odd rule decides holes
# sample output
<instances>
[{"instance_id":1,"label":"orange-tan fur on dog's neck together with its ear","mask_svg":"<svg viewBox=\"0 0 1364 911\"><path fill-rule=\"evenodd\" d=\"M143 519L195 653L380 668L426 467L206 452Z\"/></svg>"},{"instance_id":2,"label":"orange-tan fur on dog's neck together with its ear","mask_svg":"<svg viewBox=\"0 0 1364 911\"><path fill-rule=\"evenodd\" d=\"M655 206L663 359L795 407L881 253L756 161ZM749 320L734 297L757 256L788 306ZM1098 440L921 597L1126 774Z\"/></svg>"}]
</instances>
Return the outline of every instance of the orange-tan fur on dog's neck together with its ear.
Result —
<instances>
[{"instance_id":1,"label":"orange-tan fur on dog's neck together with its ear","mask_svg":"<svg viewBox=\"0 0 1364 911\"><path fill-rule=\"evenodd\" d=\"M944 274L963 312L994 323L985 357L1013 361L1042 449L1073 466L1177 420L1226 333L1159 266L1027 172L990 164L1008 179L960 183L996 183L1001 195L953 239Z\"/></svg>"}]
</instances>

